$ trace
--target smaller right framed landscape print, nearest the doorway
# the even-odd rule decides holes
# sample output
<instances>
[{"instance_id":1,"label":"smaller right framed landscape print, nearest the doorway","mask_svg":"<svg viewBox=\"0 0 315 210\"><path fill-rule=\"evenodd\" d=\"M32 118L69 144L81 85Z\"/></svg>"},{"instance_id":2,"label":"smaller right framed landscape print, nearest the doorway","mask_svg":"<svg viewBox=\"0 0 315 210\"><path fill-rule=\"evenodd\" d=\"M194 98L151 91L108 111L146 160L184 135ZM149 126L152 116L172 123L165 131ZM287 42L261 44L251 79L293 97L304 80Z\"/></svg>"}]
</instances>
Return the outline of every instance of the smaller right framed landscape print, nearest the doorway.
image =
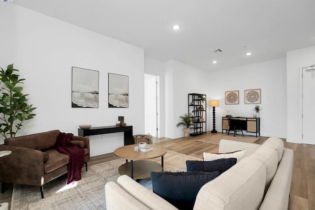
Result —
<instances>
[{"instance_id":1,"label":"smaller right framed landscape print, nearest the doorway","mask_svg":"<svg viewBox=\"0 0 315 210\"><path fill-rule=\"evenodd\" d=\"M128 108L128 76L108 73L108 108Z\"/></svg>"}]
</instances>

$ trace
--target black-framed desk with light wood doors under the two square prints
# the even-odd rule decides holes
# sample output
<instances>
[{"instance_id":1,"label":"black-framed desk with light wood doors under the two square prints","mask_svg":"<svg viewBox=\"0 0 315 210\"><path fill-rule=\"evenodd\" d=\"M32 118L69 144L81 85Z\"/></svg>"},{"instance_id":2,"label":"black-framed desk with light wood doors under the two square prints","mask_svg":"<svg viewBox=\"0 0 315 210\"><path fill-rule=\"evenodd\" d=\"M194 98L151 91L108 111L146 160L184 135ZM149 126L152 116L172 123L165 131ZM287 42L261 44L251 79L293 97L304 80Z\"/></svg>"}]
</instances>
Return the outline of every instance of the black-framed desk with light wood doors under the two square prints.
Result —
<instances>
[{"instance_id":1,"label":"black-framed desk with light wood doors under the two square prints","mask_svg":"<svg viewBox=\"0 0 315 210\"><path fill-rule=\"evenodd\" d=\"M223 130L225 130L226 132L228 131L229 119L241 120L242 130L246 130L246 132L249 133L256 133L256 137L257 133L259 133L260 136L260 118L222 117L222 133Z\"/></svg>"}]
</instances>

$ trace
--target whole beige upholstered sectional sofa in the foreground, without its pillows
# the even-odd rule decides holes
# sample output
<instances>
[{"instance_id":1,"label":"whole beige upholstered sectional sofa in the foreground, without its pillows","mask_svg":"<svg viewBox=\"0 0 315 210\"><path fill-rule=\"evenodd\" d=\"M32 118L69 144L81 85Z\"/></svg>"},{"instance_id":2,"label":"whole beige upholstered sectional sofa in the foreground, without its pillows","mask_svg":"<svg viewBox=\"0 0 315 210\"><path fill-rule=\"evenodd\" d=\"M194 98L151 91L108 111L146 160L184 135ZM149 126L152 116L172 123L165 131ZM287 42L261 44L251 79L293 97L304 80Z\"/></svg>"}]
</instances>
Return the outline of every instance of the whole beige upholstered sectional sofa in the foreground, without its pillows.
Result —
<instances>
[{"instance_id":1,"label":"whole beige upholstered sectional sofa in the foreground, without its pillows","mask_svg":"<svg viewBox=\"0 0 315 210\"><path fill-rule=\"evenodd\" d=\"M263 145L221 140L219 152L247 150L247 156L199 190L194 210L287 210L293 150L279 138ZM117 209L176 209L126 175L105 185L106 207Z\"/></svg>"}]
</instances>

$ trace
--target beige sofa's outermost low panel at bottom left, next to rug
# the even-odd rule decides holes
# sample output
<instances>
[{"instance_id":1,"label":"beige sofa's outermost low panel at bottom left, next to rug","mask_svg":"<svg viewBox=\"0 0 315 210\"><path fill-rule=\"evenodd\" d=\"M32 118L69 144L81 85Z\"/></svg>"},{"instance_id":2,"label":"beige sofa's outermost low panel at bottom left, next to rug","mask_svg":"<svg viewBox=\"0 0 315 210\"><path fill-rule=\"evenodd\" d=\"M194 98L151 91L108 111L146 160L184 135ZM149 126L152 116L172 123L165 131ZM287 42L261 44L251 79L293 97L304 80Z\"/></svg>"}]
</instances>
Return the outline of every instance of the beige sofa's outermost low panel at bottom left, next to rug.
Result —
<instances>
[{"instance_id":1,"label":"beige sofa's outermost low panel at bottom left, next to rug","mask_svg":"<svg viewBox=\"0 0 315 210\"><path fill-rule=\"evenodd\" d=\"M107 210L149 210L113 181L105 184L105 200Z\"/></svg>"}]
</instances>

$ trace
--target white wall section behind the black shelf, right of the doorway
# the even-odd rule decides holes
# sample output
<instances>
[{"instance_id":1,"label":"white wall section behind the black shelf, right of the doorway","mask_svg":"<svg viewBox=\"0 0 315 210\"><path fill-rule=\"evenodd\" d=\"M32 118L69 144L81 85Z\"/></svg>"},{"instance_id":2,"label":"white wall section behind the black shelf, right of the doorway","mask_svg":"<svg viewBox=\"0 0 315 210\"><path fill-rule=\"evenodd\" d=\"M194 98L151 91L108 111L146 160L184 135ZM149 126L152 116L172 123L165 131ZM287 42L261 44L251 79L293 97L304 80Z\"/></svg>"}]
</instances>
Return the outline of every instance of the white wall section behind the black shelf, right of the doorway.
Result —
<instances>
[{"instance_id":1,"label":"white wall section behind the black shelf, right of the doorway","mask_svg":"<svg viewBox=\"0 0 315 210\"><path fill-rule=\"evenodd\" d=\"M179 138L184 136L183 127L175 125L180 121L179 116L188 114L188 94L207 94L208 73L176 60L166 63L166 72L165 137Z\"/></svg>"}]
</instances>

